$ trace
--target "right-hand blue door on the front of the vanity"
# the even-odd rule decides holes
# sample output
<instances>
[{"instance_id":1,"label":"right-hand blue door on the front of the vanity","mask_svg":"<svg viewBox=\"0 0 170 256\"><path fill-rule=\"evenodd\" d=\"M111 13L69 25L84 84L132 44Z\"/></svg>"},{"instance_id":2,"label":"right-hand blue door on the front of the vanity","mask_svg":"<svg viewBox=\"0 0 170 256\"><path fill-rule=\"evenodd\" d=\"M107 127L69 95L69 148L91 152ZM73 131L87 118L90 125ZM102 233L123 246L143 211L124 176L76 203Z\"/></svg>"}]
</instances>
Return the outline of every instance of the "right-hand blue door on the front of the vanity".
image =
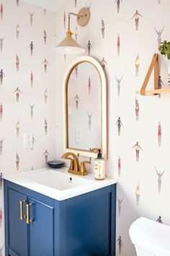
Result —
<instances>
[{"instance_id":1,"label":"right-hand blue door on the front of the vanity","mask_svg":"<svg viewBox=\"0 0 170 256\"><path fill-rule=\"evenodd\" d=\"M27 198L30 212L28 246L30 256L54 255L54 208L31 197Z\"/></svg>"}]
</instances>

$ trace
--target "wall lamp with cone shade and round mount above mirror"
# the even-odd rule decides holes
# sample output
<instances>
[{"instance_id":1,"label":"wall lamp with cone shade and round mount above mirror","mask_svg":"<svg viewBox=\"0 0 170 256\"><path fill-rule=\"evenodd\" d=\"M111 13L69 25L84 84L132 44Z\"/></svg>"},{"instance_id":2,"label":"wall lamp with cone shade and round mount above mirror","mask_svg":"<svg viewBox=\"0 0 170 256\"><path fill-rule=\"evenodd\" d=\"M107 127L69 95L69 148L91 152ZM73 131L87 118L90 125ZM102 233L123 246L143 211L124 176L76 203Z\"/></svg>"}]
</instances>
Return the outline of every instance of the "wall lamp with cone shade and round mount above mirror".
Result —
<instances>
[{"instance_id":1,"label":"wall lamp with cone shade and round mount above mirror","mask_svg":"<svg viewBox=\"0 0 170 256\"><path fill-rule=\"evenodd\" d=\"M66 33L66 38L62 40L61 43L58 44L55 48L53 48L53 51L57 54L82 54L86 51L86 49L82 48L79 43L76 42L72 38L73 33L70 30L70 15L76 15L77 16L77 23L84 27L86 24L89 23L90 20L90 12L89 7L82 8L78 14L75 14L73 12L70 12L68 14L68 31Z\"/></svg>"}]
</instances>

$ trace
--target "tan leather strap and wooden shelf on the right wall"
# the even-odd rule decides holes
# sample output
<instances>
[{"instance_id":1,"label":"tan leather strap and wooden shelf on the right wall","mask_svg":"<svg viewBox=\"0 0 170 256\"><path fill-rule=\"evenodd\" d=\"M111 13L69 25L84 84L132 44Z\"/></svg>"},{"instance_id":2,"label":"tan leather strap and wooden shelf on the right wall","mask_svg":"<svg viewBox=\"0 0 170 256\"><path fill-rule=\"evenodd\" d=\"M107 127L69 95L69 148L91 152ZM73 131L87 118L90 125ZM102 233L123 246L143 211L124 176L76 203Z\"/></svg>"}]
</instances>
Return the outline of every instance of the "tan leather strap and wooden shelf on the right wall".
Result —
<instances>
[{"instance_id":1,"label":"tan leather strap and wooden shelf on the right wall","mask_svg":"<svg viewBox=\"0 0 170 256\"><path fill-rule=\"evenodd\" d=\"M154 69L154 90L146 90L146 87L148 85L148 80L151 77L151 73ZM148 72L146 74L146 78L143 82L143 86L140 90L137 90L135 93L141 94L141 95L157 95L159 93L170 93L170 88L166 89L159 89L158 88L158 54L153 54L153 59L151 61L151 65L148 69Z\"/></svg>"}]
</instances>

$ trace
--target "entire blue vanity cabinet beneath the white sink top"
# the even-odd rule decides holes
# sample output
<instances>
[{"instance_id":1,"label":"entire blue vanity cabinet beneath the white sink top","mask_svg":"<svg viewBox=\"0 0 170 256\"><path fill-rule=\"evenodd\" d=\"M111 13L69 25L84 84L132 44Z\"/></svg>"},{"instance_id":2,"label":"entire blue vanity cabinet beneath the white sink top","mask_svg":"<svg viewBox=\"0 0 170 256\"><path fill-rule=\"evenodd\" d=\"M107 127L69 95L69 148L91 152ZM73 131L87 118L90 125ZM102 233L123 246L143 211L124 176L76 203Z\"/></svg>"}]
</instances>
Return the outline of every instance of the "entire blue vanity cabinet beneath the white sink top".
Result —
<instances>
[{"instance_id":1,"label":"entire blue vanity cabinet beneath the white sink top","mask_svg":"<svg viewBox=\"0 0 170 256\"><path fill-rule=\"evenodd\" d=\"M4 180L4 197L6 256L115 256L116 184L58 201Z\"/></svg>"}]
</instances>

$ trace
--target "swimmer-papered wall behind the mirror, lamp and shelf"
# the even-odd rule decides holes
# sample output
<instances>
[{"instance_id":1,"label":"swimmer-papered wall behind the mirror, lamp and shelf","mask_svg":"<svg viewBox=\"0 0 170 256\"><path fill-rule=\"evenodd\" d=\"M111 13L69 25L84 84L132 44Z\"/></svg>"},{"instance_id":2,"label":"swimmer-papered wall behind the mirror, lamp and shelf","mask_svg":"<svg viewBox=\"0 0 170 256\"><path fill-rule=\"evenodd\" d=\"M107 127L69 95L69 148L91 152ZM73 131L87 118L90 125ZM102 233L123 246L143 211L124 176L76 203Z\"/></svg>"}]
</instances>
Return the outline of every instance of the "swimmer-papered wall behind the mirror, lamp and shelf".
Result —
<instances>
[{"instance_id":1,"label":"swimmer-papered wall behind the mirror, lamp and shelf","mask_svg":"<svg viewBox=\"0 0 170 256\"><path fill-rule=\"evenodd\" d=\"M116 2L116 3L115 3ZM117 13L117 1L113 0L69 0L63 9L56 14L56 43L64 37L63 14L78 12L81 7L90 6L91 20L86 27L78 26L78 41L86 48L91 40L91 56L107 61L106 72L109 80L109 158L107 160L108 176L118 180L117 198L117 239L121 236L122 248L117 255L133 256L135 250L130 242L128 229L130 224L139 216L151 218L154 221L161 216L163 223L170 225L170 207L168 195L169 180L169 94L156 96L135 95L140 90L146 77L146 72L154 53L158 53L158 35L156 30L164 31L162 40L169 40L169 0L127 0L120 1L120 12ZM138 10L139 27L135 29L133 15ZM133 18L133 19L132 19ZM104 20L104 38L102 38L102 19ZM154 29L156 27L156 30ZM76 17L71 16L71 30L76 28ZM120 35L120 56L117 54L117 36ZM86 52L86 54L88 54ZM139 56L139 73L136 74L135 59ZM68 64L76 56L56 56L57 65L57 153L63 153L63 116L62 116L62 79ZM168 84L168 61L159 56L161 80ZM120 97L117 95L117 79L120 82ZM153 77L149 82L153 88ZM164 86L163 86L164 87ZM135 100L139 103L139 117L135 116ZM117 132L117 119L120 116L123 126L120 136ZM158 146L158 122L161 122L161 145ZM138 142L140 155L136 161L135 148ZM121 170L118 172L120 156ZM155 169L156 168L156 169ZM158 191L158 174L161 176L161 191ZM91 166L91 172L93 168ZM139 186L139 191L136 188ZM139 195L139 201L138 201ZM121 202L122 201L122 202ZM101 205L102 207L102 205ZM119 211L120 216L119 216Z\"/></svg>"}]
</instances>

